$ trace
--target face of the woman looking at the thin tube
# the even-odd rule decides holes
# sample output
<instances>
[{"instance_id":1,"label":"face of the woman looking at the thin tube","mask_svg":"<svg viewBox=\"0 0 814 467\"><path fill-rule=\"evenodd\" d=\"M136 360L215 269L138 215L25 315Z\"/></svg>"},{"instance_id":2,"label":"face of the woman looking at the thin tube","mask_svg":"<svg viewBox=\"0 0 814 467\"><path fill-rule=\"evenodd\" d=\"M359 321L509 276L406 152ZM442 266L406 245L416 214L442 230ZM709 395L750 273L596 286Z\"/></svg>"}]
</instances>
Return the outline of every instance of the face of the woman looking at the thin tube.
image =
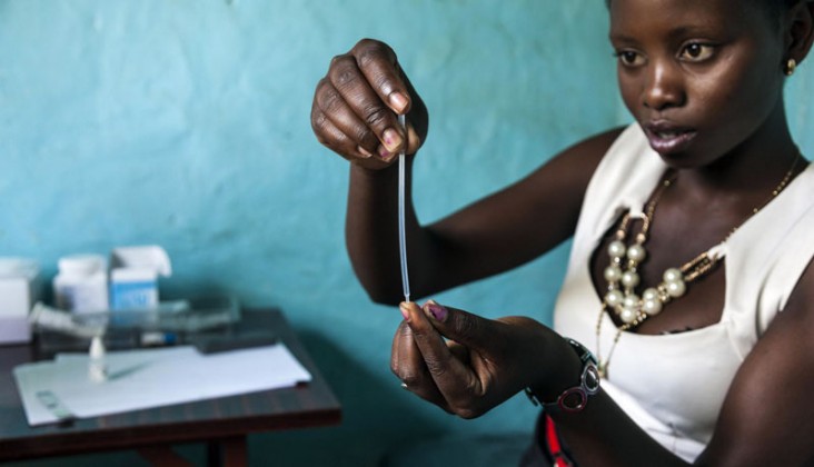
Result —
<instances>
[{"instance_id":1,"label":"face of the woman looking at the thin tube","mask_svg":"<svg viewBox=\"0 0 814 467\"><path fill-rule=\"evenodd\" d=\"M622 97L674 167L715 161L782 118L783 40L753 1L613 0Z\"/></svg>"}]
</instances>

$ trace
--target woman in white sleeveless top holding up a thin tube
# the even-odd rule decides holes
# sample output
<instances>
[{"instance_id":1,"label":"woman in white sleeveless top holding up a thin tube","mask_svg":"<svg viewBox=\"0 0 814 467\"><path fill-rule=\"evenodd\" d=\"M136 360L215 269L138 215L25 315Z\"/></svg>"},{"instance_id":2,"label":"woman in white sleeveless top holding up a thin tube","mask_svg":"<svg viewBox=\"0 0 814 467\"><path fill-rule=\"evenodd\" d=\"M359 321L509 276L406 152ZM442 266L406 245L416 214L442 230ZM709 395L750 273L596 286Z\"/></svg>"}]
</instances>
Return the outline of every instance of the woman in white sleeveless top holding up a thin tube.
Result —
<instances>
[{"instance_id":1,"label":"woman in white sleeveless top holding up a thin tube","mask_svg":"<svg viewBox=\"0 0 814 467\"><path fill-rule=\"evenodd\" d=\"M416 296L506 271L573 236L556 332L406 302L393 371L465 418L525 388L544 404L529 465L812 464L814 169L790 135L783 86L811 48L814 6L608 8L637 123L431 225L408 208ZM400 296L391 162L401 148L418 151L427 120L380 42L337 57L317 87L312 127L351 161L347 245L377 301Z\"/></svg>"}]
</instances>

